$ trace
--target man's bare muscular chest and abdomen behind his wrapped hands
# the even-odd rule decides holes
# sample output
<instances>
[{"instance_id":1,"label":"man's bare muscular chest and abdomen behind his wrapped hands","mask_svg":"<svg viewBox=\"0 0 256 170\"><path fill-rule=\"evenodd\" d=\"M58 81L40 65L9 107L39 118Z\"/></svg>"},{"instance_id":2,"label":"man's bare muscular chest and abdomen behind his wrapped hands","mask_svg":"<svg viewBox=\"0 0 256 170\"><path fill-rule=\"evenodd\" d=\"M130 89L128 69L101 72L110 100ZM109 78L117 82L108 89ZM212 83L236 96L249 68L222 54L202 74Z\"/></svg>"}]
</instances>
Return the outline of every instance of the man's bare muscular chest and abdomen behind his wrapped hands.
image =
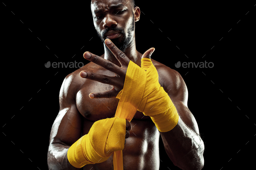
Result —
<instances>
[{"instance_id":1,"label":"man's bare muscular chest and abdomen behind his wrapped hands","mask_svg":"<svg viewBox=\"0 0 256 170\"><path fill-rule=\"evenodd\" d=\"M158 69L158 62L153 61ZM83 116L82 135L89 132L92 124L100 119L112 118L118 106L118 99L90 99L89 93L104 92L112 89L111 85L99 83L97 81L81 78L79 72L85 70L98 74L114 76L114 74L103 67L94 63L86 64L84 67L75 71L78 76L76 82L81 82L77 88L75 96L76 106ZM159 82L161 76L159 75ZM78 83L79 84L79 83ZM161 83L160 83L161 84ZM162 84L161 84L162 86ZM159 132L151 121L149 116L144 116L142 112L137 111L131 120L132 129L129 138L126 139L123 150L124 170L158 170L159 160ZM92 169L93 167L93 169ZM85 165L84 170L113 170L112 156L100 164Z\"/></svg>"}]
</instances>

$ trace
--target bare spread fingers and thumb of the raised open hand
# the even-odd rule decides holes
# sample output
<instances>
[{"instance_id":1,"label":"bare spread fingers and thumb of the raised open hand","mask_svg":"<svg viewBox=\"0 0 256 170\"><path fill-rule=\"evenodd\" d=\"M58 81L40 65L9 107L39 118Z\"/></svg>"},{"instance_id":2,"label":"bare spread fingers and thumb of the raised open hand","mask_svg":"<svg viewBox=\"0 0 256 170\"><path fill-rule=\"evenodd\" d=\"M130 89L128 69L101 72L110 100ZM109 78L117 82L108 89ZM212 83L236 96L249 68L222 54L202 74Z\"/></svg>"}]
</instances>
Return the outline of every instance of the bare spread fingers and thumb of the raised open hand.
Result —
<instances>
[{"instance_id":1,"label":"bare spread fingers and thumb of the raised open hand","mask_svg":"<svg viewBox=\"0 0 256 170\"><path fill-rule=\"evenodd\" d=\"M127 71L127 67L130 62L130 59L125 55L125 53L119 50L115 46L115 44L111 42L109 39L105 40L105 44L109 48L109 50L112 52L112 54L115 56L115 58L119 61L119 63L121 64L121 67L117 66L111 61L108 61L108 60L105 60L104 58L99 57L98 55L94 55L86 51L83 55L85 59L92 61L93 63L98 64L104 67L105 69L115 73L115 76L111 77L111 76L105 76L102 74L81 71L80 76L83 78L95 80L95 81L110 84L113 86L111 90L107 90L105 92L90 93L89 94L90 98L115 98L124 87L125 75L126 75L126 71ZM154 51L154 48L148 49L142 55L142 58L145 58L145 57L150 58L153 51Z\"/></svg>"}]
</instances>

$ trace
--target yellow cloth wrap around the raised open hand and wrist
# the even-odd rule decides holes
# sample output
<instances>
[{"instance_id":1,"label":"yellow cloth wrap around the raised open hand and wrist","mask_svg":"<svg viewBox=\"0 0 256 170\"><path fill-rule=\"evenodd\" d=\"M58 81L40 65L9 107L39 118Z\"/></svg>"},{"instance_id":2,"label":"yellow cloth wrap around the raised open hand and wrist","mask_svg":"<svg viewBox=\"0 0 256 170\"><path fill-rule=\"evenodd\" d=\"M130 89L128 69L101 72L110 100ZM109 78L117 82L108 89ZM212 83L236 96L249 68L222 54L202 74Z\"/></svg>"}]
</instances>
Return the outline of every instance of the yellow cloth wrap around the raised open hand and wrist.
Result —
<instances>
[{"instance_id":1,"label":"yellow cloth wrap around the raised open hand and wrist","mask_svg":"<svg viewBox=\"0 0 256 170\"><path fill-rule=\"evenodd\" d=\"M116 98L120 99L117 112L136 112L138 109L144 115L151 116L160 132L170 131L178 123L177 110L160 86L158 71L149 58L141 59L141 67L129 62L124 88ZM131 121L132 117L128 120Z\"/></svg>"}]
</instances>

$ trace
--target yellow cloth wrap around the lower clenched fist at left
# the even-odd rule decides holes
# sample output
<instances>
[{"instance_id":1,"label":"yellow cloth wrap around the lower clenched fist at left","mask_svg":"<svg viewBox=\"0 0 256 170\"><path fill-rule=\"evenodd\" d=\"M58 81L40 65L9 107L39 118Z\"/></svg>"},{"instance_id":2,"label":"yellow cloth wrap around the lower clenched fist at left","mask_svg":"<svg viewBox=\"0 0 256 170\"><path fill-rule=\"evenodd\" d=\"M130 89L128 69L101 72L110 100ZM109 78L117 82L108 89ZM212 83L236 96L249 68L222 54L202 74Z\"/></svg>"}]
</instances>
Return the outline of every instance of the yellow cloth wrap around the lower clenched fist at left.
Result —
<instances>
[{"instance_id":1,"label":"yellow cloth wrap around the lower clenched fist at left","mask_svg":"<svg viewBox=\"0 0 256 170\"><path fill-rule=\"evenodd\" d=\"M95 122L87 135L82 136L68 150L72 166L81 168L86 164L101 163L114 151L125 147L125 119L108 118Z\"/></svg>"}]
</instances>

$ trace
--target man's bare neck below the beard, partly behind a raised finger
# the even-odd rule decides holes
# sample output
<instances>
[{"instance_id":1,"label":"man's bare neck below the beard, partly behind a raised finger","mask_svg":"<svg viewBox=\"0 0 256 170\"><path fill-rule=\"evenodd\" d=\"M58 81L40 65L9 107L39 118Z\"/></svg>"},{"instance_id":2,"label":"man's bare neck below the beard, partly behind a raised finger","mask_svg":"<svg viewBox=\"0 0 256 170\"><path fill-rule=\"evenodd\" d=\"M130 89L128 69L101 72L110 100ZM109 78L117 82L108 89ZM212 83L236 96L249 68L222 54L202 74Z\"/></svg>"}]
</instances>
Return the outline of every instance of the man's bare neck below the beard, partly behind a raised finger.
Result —
<instances>
[{"instance_id":1,"label":"man's bare neck below the beard, partly behind a raised finger","mask_svg":"<svg viewBox=\"0 0 256 170\"><path fill-rule=\"evenodd\" d=\"M119 61L115 58L115 56L112 54L112 52L108 51L108 48L106 45L104 45L104 59L111 61L112 63L118 65L121 67L121 64ZM142 54L136 50L136 44L135 44L135 38L132 39L131 43L128 45L128 47L125 50L125 55L134 63L141 65L141 56Z\"/></svg>"}]
</instances>

